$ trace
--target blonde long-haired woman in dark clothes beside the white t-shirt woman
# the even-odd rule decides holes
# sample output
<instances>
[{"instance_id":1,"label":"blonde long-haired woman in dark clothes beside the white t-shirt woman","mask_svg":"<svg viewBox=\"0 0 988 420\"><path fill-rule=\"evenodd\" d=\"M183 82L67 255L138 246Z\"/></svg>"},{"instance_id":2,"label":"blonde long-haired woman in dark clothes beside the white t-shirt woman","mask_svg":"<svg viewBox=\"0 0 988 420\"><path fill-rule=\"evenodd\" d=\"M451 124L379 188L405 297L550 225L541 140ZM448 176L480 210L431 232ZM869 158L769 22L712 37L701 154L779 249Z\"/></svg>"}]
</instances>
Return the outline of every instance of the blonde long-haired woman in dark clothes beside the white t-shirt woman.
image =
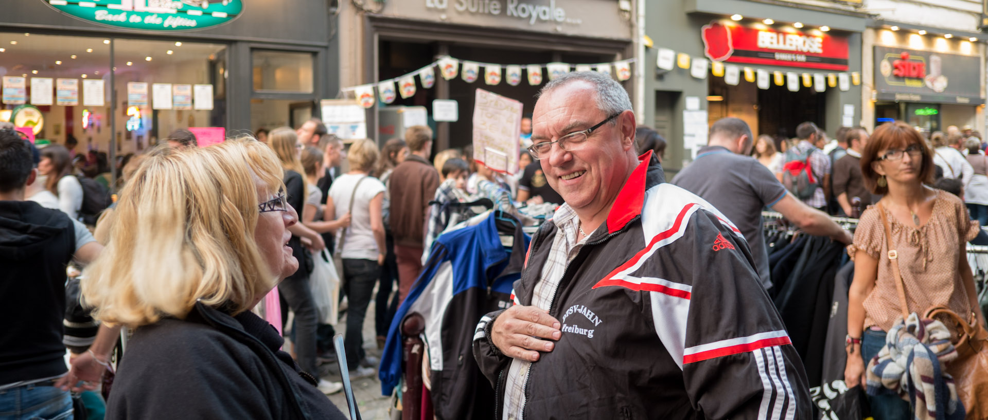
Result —
<instances>
[{"instance_id":1,"label":"blonde long-haired woman in dark clothes beside the white t-shirt woman","mask_svg":"<svg viewBox=\"0 0 988 420\"><path fill-rule=\"evenodd\" d=\"M276 128L271 131L268 137L268 145L274 149L279 162L281 162L285 174L283 180L288 205L295 211L295 214L303 214L306 188L302 174L305 173L305 170L302 169L299 160L302 145L298 142L298 136L291 128ZM318 323L318 314L312 301L312 292L308 283L309 274L312 273L312 254L305 250L303 245L314 251L322 250L326 245L321 235L300 223L290 226L288 231L291 232L291 241L288 242L288 245L291 247L295 259L298 260L298 270L278 285L278 292L288 302L288 308L295 315L294 326L291 328L292 350L294 350L298 365L305 372L317 377L316 324ZM282 319L288 319L285 309L282 313ZM334 391L335 389L325 387L325 390Z\"/></svg>"}]
</instances>

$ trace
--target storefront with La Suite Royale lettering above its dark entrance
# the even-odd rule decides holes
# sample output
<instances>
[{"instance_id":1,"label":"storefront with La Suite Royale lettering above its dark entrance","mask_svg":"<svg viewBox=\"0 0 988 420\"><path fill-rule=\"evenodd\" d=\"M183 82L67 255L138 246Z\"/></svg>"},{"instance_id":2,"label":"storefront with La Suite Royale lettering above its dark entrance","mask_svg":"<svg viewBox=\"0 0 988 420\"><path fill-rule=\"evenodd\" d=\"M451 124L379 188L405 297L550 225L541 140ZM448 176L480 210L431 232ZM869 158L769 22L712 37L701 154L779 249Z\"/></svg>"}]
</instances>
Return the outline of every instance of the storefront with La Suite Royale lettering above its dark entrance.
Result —
<instances>
[{"instance_id":1,"label":"storefront with La Suite Royale lettering above its dark entrance","mask_svg":"<svg viewBox=\"0 0 988 420\"><path fill-rule=\"evenodd\" d=\"M435 66L435 86L414 77L413 95L391 95L387 103L378 98L368 112L368 131L380 143L400 137L386 115L396 106L423 106L426 122L436 128L434 149L463 147L471 142L476 89L520 101L531 114L535 94L549 80L548 63L567 64L568 71L589 64L617 77L612 64L634 52L632 16L613 0L407 0L374 10L344 9L340 84L348 98L354 97L349 87L368 84L380 97L380 83L405 86L404 76L452 57L459 70L452 79L441 77ZM498 77L488 78L488 69L495 68ZM533 71L543 76L530 80ZM631 83L625 83L628 92ZM435 100L455 101L457 120L436 122Z\"/></svg>"}]
</instances>

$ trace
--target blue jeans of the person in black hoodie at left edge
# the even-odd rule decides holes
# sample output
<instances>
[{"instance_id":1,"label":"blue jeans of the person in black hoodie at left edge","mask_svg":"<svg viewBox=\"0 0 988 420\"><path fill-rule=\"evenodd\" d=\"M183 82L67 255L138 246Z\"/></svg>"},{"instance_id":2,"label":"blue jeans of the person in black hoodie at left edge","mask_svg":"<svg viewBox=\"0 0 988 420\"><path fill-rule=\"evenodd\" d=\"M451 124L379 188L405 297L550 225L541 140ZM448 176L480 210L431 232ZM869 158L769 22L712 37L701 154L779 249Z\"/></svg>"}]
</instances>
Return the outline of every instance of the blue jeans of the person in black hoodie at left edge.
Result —
<instances>
[{"instance_id":1,"label":"blue jeans of the person in black hoodie at left edge","mask_svg":"<svg viewBox=\"0 0 988 420\"><path fill-rule=\"evenodd\" d=\"M0 420L70 420L72 395L67 390L41 384L0 390Z\"/></svg>"}]
</instances>

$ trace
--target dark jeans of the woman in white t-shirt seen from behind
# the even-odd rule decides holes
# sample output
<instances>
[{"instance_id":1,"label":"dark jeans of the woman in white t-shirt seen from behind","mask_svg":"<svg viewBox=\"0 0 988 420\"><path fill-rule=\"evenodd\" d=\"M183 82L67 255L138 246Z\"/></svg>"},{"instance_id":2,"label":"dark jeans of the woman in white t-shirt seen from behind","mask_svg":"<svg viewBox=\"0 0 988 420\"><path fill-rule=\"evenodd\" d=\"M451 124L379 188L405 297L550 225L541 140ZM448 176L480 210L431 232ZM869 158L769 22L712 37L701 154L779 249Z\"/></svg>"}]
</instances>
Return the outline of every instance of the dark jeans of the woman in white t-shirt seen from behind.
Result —
<instances>
[{"instance_id":1,"label":"dark jeans of the woman in white t-shirt seen from behind","mask_svg":"<svg viewBox=\"0 0 988 420\"><path fill-rule=\"evenodd\" d=\"M347 335L343 347L347 352L347 366L357 369L364 360L364 318L373 296L373 286L380 274L380 265L370 259L344 258L343 291L347 294Z\"/></svg>"}]
</instances>

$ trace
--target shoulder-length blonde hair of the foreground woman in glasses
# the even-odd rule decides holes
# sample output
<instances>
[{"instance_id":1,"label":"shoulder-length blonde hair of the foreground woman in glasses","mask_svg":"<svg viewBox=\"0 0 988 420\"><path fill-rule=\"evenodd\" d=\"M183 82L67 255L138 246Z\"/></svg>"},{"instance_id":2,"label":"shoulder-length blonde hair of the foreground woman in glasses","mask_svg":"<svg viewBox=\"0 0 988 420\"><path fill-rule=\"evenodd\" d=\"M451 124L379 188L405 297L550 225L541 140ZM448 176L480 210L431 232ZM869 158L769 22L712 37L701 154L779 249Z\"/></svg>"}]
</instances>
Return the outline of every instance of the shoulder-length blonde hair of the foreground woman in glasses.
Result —
<instances>
[{"instance_id":1,"label":"shoulder-length blonde hair of the foreground woman in glasses","mask_svg":"<svg viewBox=\"0 0 988 420\"><path fill-rule=\"evenodd\" d=\"M259 195L284 188L281 175L275 153L254 141L153 150L126 182L110 241L82 280L93 316L135 327L184 318L197 302L249 310L278 280L254 230Z\"/></svg>"}]
</instances>

